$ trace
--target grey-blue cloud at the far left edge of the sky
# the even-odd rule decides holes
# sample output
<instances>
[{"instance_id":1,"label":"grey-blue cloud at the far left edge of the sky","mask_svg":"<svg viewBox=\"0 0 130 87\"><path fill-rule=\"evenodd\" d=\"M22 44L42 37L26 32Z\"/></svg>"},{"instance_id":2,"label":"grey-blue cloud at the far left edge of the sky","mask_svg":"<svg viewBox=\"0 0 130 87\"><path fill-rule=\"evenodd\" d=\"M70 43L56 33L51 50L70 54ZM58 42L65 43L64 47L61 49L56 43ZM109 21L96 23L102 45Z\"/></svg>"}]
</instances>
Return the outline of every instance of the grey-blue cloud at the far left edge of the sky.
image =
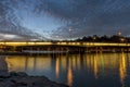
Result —
<instances>
[{"instance_id":1,"label":"grey-blue cloud at the far left edge of the sky","mask_svg":"<svg viewBox=\"0 0 130 87\"><path fill-rule=\"evenodd\" d=\"M18 3L22 2L15 0L0 0L0 33L17 35L23 37L23 39L28 37L38 38L38 34L21 25L20 17L14 13Z\"/></svg>"}]
</instances>

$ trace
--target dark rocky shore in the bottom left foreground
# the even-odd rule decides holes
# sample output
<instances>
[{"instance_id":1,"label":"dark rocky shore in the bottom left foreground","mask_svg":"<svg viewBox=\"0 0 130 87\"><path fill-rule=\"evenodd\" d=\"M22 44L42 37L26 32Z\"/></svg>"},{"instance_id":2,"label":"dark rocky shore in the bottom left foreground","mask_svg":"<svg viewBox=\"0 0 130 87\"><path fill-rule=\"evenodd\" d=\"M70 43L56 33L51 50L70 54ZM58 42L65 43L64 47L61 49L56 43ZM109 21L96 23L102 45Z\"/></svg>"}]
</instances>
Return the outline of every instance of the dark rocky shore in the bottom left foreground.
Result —
<instances>
[{"instance_id":1,"label":"dark rocky shore in the bottom left foreground","mask_svg":"<svg viewBox=\"0 0 130 87\"><path fill-rule=\"evenodd\" d=\"M26 73L11 72L8 76L0 77L0 87L68 87L57 84L44 76L28 76Z\"/></svg>"}]
</instances>

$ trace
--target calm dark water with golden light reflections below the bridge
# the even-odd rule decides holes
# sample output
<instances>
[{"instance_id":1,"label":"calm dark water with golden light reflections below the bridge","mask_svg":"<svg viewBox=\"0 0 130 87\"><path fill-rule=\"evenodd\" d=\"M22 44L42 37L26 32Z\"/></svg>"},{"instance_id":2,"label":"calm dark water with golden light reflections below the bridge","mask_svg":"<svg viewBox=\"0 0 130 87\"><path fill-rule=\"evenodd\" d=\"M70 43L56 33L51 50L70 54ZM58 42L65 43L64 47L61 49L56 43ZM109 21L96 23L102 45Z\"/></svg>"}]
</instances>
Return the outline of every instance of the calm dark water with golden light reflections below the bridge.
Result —
<instances>
[{"instance_id":1,"label":"calm dark water with golden light reflections below the bridge","mask_svg":"<svg viewBox=\"0 0 130 87\"><path fill-rule=\"evenodd\" d=\"M130 87L130 53L11 55L6 62L10 71L72 87Z\"/></svg>"}]
</instances>

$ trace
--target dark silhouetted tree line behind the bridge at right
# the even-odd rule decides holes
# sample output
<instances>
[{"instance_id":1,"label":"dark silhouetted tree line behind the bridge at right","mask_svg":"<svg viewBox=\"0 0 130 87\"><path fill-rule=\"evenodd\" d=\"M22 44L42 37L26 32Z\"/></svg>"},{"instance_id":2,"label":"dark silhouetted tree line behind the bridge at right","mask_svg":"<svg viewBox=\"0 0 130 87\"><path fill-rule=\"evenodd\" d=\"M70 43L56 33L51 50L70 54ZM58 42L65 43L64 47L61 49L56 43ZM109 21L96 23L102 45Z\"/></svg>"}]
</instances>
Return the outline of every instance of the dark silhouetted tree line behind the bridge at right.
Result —
<instances>
[{"instance_id":1,"label":"dark silhouetted tree line behind the bridge at right","mask_svg":"<svg viewBox=\"0 0 130 87\"><path fill-rule=\"evenodd\" d=\"M88 41L88 42L130 42L130 37L123 37L119 35L113 36L84 36L82 38L75 39L74 41Z\"/></svg>"}]
</instances>

